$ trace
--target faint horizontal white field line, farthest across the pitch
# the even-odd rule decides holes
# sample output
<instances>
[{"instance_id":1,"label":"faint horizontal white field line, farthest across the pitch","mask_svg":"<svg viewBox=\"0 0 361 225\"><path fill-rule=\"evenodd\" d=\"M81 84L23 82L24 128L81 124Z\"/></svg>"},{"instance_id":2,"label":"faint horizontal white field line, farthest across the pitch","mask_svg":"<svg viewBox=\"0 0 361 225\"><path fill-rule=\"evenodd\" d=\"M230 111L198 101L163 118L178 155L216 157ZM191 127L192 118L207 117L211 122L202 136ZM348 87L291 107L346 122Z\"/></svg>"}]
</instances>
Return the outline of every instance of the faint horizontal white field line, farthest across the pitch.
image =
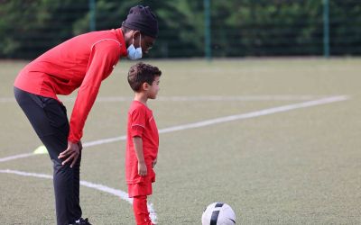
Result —
<instances>
[{"instance_id":1,"label":"faint horizontal white field line, farthest across the pitch","mask_svg":"<svg viewBox=\"0 0 361 225\"><path fill-rule=\"evenodd\" d=\"M198 102L198 101L307 101L315 98L326 97L325 95L311 95L311 94L263 94L263 95L207 95L207 96L160 96L157 101L163 102ZM60 97L62 102L74 102L75 97ZM98 96L96 103L117 103L130 102L133 97L122 96ZM14 97L1 97L0 103L15 103Z\"/></svg>"}]
</instances>

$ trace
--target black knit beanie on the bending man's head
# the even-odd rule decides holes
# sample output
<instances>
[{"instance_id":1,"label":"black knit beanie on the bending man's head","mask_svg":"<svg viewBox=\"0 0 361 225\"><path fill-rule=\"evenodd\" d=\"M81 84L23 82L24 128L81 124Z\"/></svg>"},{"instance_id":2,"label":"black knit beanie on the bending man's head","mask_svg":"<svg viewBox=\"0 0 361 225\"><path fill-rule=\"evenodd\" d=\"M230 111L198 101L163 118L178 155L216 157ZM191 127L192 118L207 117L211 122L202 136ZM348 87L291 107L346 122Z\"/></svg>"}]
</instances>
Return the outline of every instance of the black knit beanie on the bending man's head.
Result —
<instances>
[{"instance_id":1,"label":"black knit beanie on the bending man's head","mask_svg":"<svg viewBox=\"0 0 361 225\"><path fill-rule=\"evenodd\" d=\"M122 26L135 31L141 31L153 38L156 38L158 35L157 18L149 6L136 5L132 7Z\"/></svg>"}]
</instances>

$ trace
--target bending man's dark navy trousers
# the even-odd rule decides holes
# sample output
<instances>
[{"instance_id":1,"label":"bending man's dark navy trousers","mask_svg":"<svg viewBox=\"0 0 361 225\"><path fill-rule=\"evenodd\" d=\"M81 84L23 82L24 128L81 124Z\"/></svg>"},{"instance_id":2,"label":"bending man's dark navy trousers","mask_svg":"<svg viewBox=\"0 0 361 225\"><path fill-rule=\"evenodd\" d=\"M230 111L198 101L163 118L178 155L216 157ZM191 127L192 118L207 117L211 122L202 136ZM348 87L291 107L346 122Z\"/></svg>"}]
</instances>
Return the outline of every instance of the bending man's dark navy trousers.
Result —
<instances>
[{"instance_id":1,"label":"bending man's dark navy trousers","mask_svg":"<svg viewBox=\"0 0 361 225\"><path fill-rule=\"evenodd\" d=\"M72 223L81 217L79 206L79 166L62 166L58 158L68 147L69 121L65 107L58 101L14 88L16 101L32 123L33 129L48 149L53 162L54 192L59 225Z\"/></svg>"}]
</instances>

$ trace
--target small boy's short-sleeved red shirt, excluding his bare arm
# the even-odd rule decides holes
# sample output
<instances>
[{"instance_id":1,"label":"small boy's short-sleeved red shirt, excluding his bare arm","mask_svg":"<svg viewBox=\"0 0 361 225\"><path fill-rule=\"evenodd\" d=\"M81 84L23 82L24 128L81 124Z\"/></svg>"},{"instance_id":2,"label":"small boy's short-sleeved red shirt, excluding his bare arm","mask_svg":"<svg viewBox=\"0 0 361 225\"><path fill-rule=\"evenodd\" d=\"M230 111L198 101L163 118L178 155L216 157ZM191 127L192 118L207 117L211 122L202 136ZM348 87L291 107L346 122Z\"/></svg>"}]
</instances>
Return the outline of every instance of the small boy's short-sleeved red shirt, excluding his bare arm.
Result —
<instances>
[{"instance_id":1,"label":"small boy's short-sleeved red shirt, excluding his bare arm","mask_svg":"<svg viewBox=\"0 0 361 225\"><path fill-rule=\"evenodd\" d=\"M147 175L138 175L138 159L135 155L133 137L143 140L143 155L147 166ZM128 111L128 125L125 152L126 184L154 182L155 173L152 163L158 155L159 135L153 112L143 103L134 101Z\"/></svg>"}]
</instances>

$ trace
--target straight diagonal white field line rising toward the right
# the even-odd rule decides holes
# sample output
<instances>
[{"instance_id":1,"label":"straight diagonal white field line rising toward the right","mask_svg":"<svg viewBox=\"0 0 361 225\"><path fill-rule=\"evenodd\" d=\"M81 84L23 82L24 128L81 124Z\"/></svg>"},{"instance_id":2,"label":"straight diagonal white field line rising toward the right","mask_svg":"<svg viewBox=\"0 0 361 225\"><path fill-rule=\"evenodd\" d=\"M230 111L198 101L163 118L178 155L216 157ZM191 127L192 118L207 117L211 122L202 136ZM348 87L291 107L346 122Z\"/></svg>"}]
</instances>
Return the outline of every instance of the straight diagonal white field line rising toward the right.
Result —
<instances>
[{"instance_id":1,"label":"straight diagonal white field line rising toward the right","mask_svg":"<svg viewBox=\"0 0 361 225\"><path fill-rule=\"evenodd\" d=\"M291 111L291 110L295 110L295 109L316 106L316 105L320 105L320 104L346 101L348 98L349 98L349 96L347 96L347 95L338 95L338 96L331 96L331 97L321 98L318 100L313 100L313 101L308 101L308 102L303 102L303 103L292 103L292 104L282 105L279 107L264 109L261 111L230 115L230 116L220 117L220 118L216 118L216 119L212 119L212 120L193 122L193 123L183 124L180 126L165 128L165 129L159 130L159 133L167 133L167 132L173 132L173 131L178 131L178 130L188 130L188 129L194 129L194 128L200 128L200 127L205 127L205 126L209 126L209 125L214 125L214 124L221 123L221 122L255 118L255 117L273 114L273 113L277 113L277 112L286 112L286 111ZM126 136L119 136L119 137L109 138L109 139L98 139L98 140L94 140L94 141L85 142L83 144L83 146L91 147L91 146L102 145L102 144L125 140L125 139L126 139ZM16 155L16 156L12 156L12 157L3 157L3 158L0 158L0 162L10 161L13 159L29 157L29 156L32 156L32 153L21 154L21 155Z\"/></svg>"}]
</instances>

